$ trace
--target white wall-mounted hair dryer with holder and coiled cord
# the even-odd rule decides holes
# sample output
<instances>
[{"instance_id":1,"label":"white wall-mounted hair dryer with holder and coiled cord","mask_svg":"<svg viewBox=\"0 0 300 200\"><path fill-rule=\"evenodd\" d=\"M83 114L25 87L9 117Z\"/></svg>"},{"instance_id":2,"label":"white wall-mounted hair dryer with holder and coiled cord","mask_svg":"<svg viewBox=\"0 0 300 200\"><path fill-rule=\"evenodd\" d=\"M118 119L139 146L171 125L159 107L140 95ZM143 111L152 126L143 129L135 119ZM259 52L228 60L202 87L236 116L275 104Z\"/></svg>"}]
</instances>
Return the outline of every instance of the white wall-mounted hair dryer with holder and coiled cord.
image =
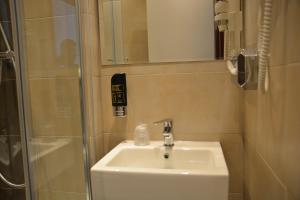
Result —
<instances>
[{"instance_id":1,"label":"white wall-mounted hair dryer with holder and coiled cord","mask_svg":"<svg viewBox=\"0 0 300 200\"><path fill-rule=\"evenodd\" d=\"M240 0L217 1L215 21L224 32L224 60L229 72L245 89L268 90L268 64L272 25L272 0L264 0L262 24L259 31L258 50L240 49L240 32L243 15Z\"/></svg>"}]
</instances>

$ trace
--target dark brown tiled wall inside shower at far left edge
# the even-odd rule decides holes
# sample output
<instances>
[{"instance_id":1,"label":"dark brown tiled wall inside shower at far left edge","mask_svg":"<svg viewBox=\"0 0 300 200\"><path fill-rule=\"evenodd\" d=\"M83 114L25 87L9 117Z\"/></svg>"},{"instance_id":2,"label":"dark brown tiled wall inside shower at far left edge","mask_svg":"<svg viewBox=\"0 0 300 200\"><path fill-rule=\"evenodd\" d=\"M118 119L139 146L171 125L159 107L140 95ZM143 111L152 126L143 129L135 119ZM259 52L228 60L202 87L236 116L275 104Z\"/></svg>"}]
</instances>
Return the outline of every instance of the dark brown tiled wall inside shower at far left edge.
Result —
<instances>
[{"instance_id":1,"label":"dark brown tiled wall inside shower at far left edge","mask_svg":"<svg viewBox=\"0 0 300 200\"><path fill-rule=\"evenodd\" d=\"M10 45L12 45L8 0L0 1L0 22ZM0 34L0 51L6 50ZM0 62L2 62L2 73L0 73L0 173L14 183L24 183L15 71L10 61L0 60ZM1 200L24 198L24 189L11 189L0 180Z\"/></svg>"}]
</instances>

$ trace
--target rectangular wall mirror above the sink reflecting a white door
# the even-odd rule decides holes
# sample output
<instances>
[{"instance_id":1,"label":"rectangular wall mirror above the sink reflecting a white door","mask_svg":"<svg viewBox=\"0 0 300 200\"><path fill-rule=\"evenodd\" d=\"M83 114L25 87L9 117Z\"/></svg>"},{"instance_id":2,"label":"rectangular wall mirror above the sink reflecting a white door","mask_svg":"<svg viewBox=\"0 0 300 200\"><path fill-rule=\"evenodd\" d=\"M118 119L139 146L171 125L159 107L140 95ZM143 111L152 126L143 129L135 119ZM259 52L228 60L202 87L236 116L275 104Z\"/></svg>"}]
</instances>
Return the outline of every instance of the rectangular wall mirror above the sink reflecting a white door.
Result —
<instances>
[{"instance_id":1,"label":"rectangular wall mirror above the sink reflecting a white door","mask_svg":"<svg viewBox=\"0 0 300 200\"><path fill-rule=\"evenodd\" d=\"M102 0L103 65L223 58L215 0Z\"/></svg>"}]
</instances>

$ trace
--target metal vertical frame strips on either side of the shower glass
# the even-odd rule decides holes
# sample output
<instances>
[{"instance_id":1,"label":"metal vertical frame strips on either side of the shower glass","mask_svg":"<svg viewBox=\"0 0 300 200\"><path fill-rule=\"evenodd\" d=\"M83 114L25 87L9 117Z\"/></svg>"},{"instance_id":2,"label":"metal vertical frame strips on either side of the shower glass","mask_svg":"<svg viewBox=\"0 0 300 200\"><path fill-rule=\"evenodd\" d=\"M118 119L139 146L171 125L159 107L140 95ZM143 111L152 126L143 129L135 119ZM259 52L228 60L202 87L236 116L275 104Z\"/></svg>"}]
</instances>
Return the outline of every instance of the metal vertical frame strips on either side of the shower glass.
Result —
<instances>
[{"instance_id":1,"label":"metal vertical frame strips on either side of the shower glass","mask_svg":"<svg viewBox=\"0 0 300 200\"><path fill-rule=\"evenodd\" d=\"M76 16L78 25L78 43L81 46L81 19L80 19L80 0L75 0L76 3ZM18 107L19 107L19 121L20 121L20 132L21 132L21 143L22 143L22 156L23 156L23 166L24 166L24 178L25 178L25 190L26 190L26 200L37 200L36 193L34 190L34 175L32 172L32 164L30 162L30 149L29 149L29 134L32 133L31 127L31 111L28 108L29 97L28 97L28 87L26 81L26 59L25 59L25 48L22 39L24 37L24 24L22 0L9 0L10 11L11 11L11 21L12 21L12 32L13 32L13 43L15 51L16 60L16 84L18 93ZM84 64L82 48L80 48L80 108L81 108L81 126L82 126L82 142L83 142L83 165L84 165L84 175L85 175L85 187L86 187L86 200L92 200L91 191L91 178L90 178L90 165L89 165L89 148L88 148L88 136L87 136L87 122L86 122L86 101L84 98L85 85L84 85Z\"/></svg>"}]
</instances>

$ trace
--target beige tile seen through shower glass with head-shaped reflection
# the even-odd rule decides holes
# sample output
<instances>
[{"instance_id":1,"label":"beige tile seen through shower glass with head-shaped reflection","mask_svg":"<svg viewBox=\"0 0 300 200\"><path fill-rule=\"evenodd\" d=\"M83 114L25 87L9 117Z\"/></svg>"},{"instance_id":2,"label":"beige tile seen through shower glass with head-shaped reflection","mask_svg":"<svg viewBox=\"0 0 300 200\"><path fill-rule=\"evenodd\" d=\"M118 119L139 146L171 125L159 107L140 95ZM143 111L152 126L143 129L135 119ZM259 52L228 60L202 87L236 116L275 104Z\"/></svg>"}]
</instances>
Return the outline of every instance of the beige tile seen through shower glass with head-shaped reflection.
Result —
<instances>
[{"instance_id":1,"label":"beige tile seen through shower glass with head-shaped reflection","mask_svg":"<svg viewBox=\"0 0 300 200\"><path fill-rule=\"evenodd\" d=\"M76 16L25 21L26 70L30 77L79 77Z\"/></svg>"}]
</instances>

